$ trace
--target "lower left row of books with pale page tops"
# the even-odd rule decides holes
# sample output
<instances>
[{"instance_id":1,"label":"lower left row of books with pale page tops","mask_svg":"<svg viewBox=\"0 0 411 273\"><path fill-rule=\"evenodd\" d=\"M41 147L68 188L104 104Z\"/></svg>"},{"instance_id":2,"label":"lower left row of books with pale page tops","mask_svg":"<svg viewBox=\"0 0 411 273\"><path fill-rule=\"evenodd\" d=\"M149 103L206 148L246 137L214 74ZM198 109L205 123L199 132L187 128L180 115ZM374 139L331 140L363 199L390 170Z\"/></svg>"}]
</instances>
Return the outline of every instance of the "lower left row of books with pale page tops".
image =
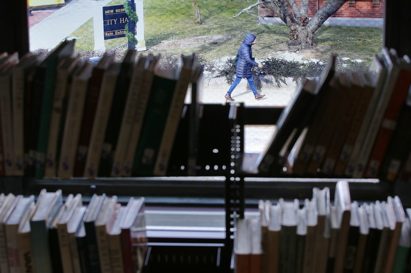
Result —
<instances>
[{"instance_id":1,"label":"lower left row of books with pale page tops","mask_svg":"<svg viewBox=\"0 0 411 273\"><path fill-rule=\"evenodd\" d=\"M144 198L0 195L1 272L141 272Z\"/></svg>"}]
</instances>

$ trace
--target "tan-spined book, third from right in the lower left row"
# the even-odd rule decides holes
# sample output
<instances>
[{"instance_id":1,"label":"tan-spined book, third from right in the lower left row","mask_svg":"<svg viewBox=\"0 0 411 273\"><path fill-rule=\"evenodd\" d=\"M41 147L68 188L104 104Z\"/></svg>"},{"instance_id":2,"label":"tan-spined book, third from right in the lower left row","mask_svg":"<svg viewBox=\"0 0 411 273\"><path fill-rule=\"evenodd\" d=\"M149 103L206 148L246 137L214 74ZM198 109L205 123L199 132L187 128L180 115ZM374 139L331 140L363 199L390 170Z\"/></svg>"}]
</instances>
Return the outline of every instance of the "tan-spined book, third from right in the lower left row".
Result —
<instances>
[{"instance_id":1,"label":"tan-spined book, third from right in the lower left row","mask_svg":"<svg viewBox=\"0 0 411 273\"><path fill-rule=\"evenodd\" d=\"M95 222L101 272L111 272L107 233L116 220L118 213L117 205L117 196L106 198Z\"/></svg>"}]
</instances>

